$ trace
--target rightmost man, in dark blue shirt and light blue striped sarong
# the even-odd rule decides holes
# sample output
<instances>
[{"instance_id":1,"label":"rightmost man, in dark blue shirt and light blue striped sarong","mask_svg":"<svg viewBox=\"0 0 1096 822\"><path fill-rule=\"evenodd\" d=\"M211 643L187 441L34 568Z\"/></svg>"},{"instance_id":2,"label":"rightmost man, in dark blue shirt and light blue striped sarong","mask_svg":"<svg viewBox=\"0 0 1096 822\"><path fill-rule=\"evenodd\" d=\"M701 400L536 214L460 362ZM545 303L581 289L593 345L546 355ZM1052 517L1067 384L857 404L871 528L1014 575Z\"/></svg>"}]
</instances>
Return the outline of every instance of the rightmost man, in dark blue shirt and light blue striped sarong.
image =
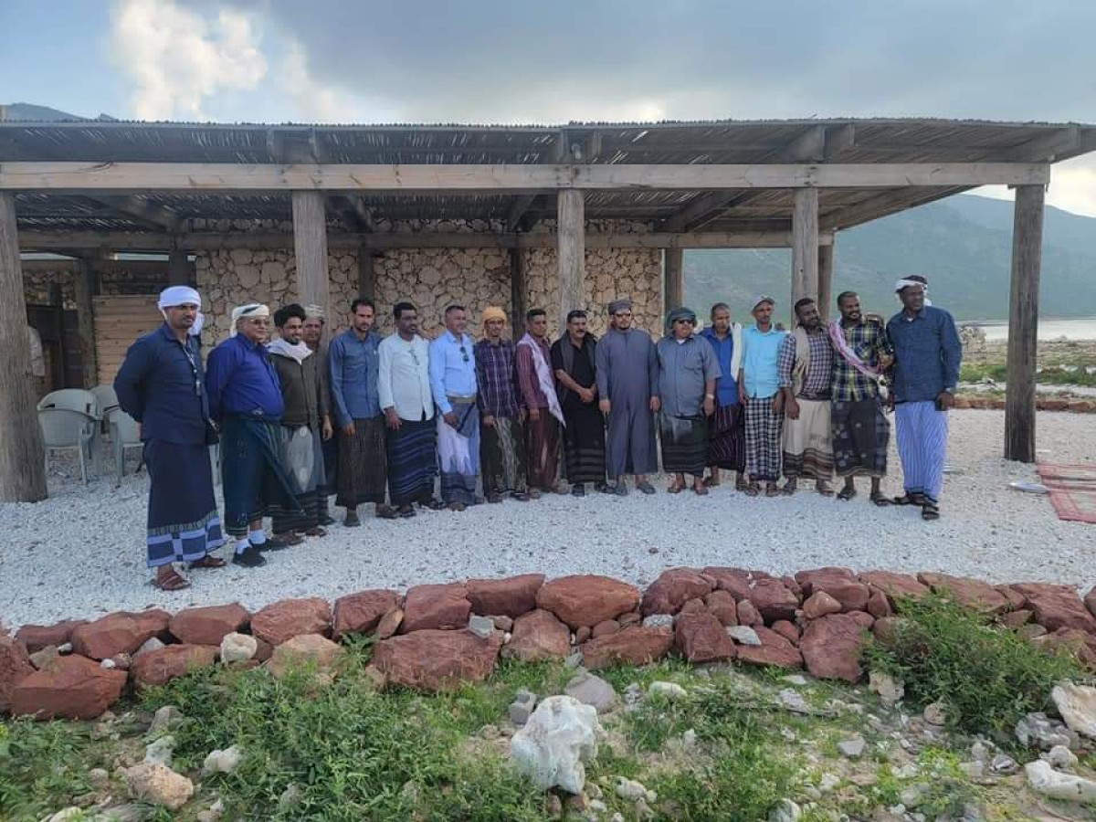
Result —
<instances>
[{"instance_id":1,"label":"rightmost man, in dark blue shirt and light blue striped sarong","mask_svg":"<svg viewBox=\"0 0 1096 822\"><path fill-rule=\"evenodd\" d=\"M938 520L948 445L948 410L955 407L962 343L955 320L926 305L924 277L894 286L902 310L887 323L894 349L891 399L898 455L905 493L894 502L921 505L925 520Z\"/></svg>"}]
</instances>

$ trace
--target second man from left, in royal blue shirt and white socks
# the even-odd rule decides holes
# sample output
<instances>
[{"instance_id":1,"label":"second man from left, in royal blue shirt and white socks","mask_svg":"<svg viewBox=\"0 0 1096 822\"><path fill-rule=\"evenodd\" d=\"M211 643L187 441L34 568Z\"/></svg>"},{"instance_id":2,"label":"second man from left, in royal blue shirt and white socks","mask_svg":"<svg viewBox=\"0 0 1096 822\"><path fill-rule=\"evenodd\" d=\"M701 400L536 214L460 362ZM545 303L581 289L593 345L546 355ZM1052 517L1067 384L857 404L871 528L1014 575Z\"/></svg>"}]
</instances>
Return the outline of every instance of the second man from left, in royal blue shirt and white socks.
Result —
<instances>
[{"instance_id":1,"label":"second man from left, in royal blue shirt and white socks","mask_svg":"<svg viewBox=\"0 0 1096 822\"><path fill-rule=\"evenodd\" d=\"M275 511L304 514L279 456L277 425L285 404L264 345L270 323L266 306L233 308L231 336L209 353L206 372L209 414L221 429L225 530L236 538L232 562L246 568L266 563L260 551L301 541L263 533L263 517Z\"/></svg>"}]
</instances>

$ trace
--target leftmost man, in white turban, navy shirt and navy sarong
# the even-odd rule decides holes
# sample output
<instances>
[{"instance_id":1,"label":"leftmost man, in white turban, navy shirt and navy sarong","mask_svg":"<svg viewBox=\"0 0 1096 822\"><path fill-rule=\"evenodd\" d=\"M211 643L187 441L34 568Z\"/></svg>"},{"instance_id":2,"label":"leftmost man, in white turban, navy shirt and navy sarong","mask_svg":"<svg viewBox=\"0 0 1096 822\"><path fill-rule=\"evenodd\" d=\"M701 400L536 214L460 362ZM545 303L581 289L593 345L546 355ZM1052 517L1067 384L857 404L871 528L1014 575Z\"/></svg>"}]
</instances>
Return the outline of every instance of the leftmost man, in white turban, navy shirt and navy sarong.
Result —
<instances>
[{"instance_id":1,"label":"leftmost man, in white turban, navy shirt and navy sarong","mask_svg":"<svg viewBox=\"0 0 1096 822\"><path fill-rule=\"evenodd\" d=\"M147 562L162 591L190 586L172 566L221 568L225 544L207 450L212 427L197 333L202 298L189 286L160 294L163 324L126 352L114 378L122 410L141 425L148 466Z\"/></svg>"}]
</instances>

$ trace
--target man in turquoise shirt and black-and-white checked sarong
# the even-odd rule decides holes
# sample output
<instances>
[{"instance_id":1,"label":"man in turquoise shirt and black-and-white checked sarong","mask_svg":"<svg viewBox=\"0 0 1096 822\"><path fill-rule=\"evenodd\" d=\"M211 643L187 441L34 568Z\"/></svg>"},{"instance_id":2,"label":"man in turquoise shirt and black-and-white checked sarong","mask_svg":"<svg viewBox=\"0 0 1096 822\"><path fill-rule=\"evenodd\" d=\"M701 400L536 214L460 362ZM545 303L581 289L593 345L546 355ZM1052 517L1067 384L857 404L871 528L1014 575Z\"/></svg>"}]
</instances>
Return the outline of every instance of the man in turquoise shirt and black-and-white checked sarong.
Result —
<instances>
[{"instance_id":1,"label":"man in turquoise shirt and black-and-white checked sarong","mask_svg":"<svg viewBox=\"0 0 1096 822\"><path fill-rule=\"evenodd\" d=\"M784 426L784 397L777 361L780 344L787 333L773 328L772 297L761 295L753 300L756 324L742 332L742 368L739 372L739 400L746 415L746 473L750 483L745 493L756 496L765 482L765 495L780 493L776 484L780 476L780 431Z\"/></svg>"}]
</instances>

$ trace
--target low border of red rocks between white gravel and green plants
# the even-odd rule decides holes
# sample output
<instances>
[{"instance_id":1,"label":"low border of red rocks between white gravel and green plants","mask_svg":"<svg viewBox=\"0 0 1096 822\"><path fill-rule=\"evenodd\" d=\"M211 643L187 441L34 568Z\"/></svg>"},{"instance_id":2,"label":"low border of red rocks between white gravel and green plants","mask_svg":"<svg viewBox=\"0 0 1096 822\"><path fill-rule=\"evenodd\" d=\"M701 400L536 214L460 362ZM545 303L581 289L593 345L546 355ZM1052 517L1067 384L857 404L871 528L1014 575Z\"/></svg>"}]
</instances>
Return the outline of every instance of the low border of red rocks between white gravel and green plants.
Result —
<instances>
[{"instance_id":1,"label":"low border of red rocks between white gravel and green plants","mask_svg":"<svg viewBox=\"0 0 1096 822\"><path fill-rule=\"evenodd\" d=\"M230 632L256 640L254 660L237 663L246 665L265 662L273 648L295 637L372 633L378 681L424 690L483 680L500 655L536 661L578 653L595 670L643 664L672 651L694 663L803 667L855 683L863 675L865 631L886 636L894 628L895 598L929 591L992 615L1032 642L1069 647L1096 670L1096 587L1082 600L1069 585L991 585L934 572L819 568L778 578L740 568L674 568L642 592L607 576L546 582L544 574L523 574L416 585L407 595L361 591L333 607L311 597L283 600L254 614L233 603L173 616L155 609L26 625L14 637L0 635L0 712L92 719L126 687L160 685L216 664L220 638ZM475 620L475 632L473 615L487 618ZM730 626L752 633L732 638ZM139 651L152 638L163 647ZM65 643L72 652L62 655L57 647Z\"/></svg>"}]
</instances>

